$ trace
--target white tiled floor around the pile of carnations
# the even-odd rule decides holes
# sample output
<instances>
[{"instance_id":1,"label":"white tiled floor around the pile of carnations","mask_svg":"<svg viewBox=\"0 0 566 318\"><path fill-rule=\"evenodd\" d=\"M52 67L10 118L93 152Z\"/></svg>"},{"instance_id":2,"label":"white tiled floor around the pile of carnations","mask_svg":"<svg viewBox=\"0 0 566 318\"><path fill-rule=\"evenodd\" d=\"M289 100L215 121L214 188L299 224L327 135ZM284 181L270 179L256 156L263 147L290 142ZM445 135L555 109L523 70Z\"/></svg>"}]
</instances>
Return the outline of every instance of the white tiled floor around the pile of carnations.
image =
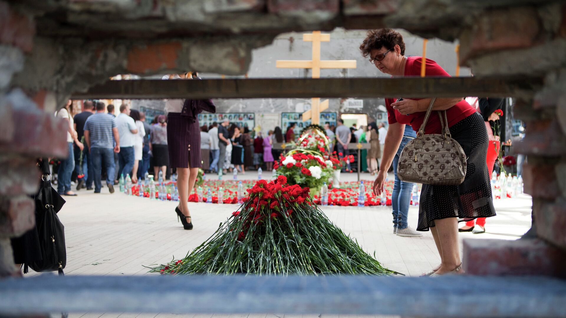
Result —
<instances>
[{"instance_id":1,"label":"white tiled floor around the pile of carnations","mask_svg":"<svg viewBox=\"0 0 566 318\"><path fill-rule=\"evenodd\" d=\"M250 171L240 177L257 178L257 174ZM370 178L370 175L365 174L362 179ZM344 179L354 181L355 174L344 175L342 180ZM179 259L185 256L188 251L207 239L217 229L218 224L225 221L237 208L231 204L189 203L195 228L186 231L181 223L177 222L174 202L132 197L118 192L109 194L108 188L102 188L101 194L84 190L78 191L78 194L76 197L65 197L67 203L59 212L59 218L65 225L67 275L145 274L147 268L144 268L144 265L163 263L173 257ZM498 216L487 220L486 234L462 233L460 237L517 239L529 229L529 196L498 200L495 205ZM324 207L323 212L345 233L357 239L368 253L373 255L375 252L377 259L385 267L408 276L418 276L439 262L430 233L425 232L423 237L416 238L398 237L392 233L391 207ZM417 208L411 207L409 224L413 227L417 223L417 214ZM32 272L26 277L35 274L37 273ZM155 318L178 315L71 313L70 316ZM197 316L187 315L183 318ZM207 315L208 318L212 316ZM250 315L256 316L259 317Z\"/></svg>"}]
</instances>

